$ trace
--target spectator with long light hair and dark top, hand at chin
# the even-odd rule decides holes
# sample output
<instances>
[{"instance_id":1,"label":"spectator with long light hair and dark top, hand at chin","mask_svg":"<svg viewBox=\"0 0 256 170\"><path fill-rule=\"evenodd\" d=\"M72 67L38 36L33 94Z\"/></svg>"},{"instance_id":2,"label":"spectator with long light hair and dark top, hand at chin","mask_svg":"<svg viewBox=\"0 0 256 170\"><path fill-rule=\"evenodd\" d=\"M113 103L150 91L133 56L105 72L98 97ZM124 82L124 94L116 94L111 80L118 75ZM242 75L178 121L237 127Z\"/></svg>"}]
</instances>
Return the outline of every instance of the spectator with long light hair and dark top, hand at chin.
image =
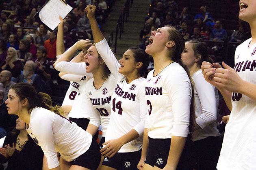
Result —
<instances>
[{"instance_id":1,"label":"spectator with long light hair and dark top, hand at chin","mask_svg":"<svg viewBox=\"0 0 256 170\"><path fill-rule=\"evenodd\" d=\"M2 65L1 68L2 70L9 70L14 78L17 78L20 75L20 72L23 69L23 64L18 58L17 51L13 47L9 47L5 64Z\"/></svg>"}]
</instances>

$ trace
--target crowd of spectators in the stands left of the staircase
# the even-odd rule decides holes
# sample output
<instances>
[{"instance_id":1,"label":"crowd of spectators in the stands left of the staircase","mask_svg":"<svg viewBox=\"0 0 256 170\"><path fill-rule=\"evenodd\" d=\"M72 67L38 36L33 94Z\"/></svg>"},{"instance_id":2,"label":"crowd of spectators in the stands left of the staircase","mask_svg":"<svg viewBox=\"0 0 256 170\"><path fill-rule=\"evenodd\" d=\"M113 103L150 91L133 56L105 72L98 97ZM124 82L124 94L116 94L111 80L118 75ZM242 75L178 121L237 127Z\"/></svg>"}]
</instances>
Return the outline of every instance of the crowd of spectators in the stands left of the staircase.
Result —
<instances>
[{"instance_id":1,"label":"crowd of spectators in the stands left of the staircase","mask_svg":"<svg viewBox=\"0 0 256 170\"><path fill-rule=\"evenodd\" d=\"M11 85L30 83L37 92L52 94L52 85L61 79L53 67L56 60L56 34L36 19L46 0L10 0L0 7L0 137L10 132L16 116L7 114L7 94ZM85 13L87 4L97 6L100 28L105 23L113 0L70 1L73 10L66 18L65 50L79 39L91 39L91 27Z\"/></svg>"}]
</instances>

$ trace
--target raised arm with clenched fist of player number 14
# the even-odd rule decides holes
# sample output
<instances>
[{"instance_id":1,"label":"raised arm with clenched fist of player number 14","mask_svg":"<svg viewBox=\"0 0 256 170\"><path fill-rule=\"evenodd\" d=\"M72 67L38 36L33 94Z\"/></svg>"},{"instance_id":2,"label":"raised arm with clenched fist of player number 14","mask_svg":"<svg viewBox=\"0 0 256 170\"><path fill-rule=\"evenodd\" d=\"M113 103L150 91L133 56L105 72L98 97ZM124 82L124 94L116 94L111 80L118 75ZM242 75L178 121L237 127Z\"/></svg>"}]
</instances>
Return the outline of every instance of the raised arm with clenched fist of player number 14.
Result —
<instances>
[{"instance_id":1,"label":"raised arm with clenched fist of player number 14","mask_svg":"<svg viewBox=\"0 0 256 170\"><path fill-rule=\"evenodd\" d=\"M121 75L118 72L120 64L117 61L114 53L109 48L108 43L106 42L106 39L104 38L102 32L100 31L98 23L95 19L95 10L96 6L88 5L86 7L87 17L90 21L91 30L93 33L93 40L95 42L98 53L101 55L102 59L108 66L108 69L111 71L113 76L117 79L117 77Z\"/></svg>"}]
</instances>

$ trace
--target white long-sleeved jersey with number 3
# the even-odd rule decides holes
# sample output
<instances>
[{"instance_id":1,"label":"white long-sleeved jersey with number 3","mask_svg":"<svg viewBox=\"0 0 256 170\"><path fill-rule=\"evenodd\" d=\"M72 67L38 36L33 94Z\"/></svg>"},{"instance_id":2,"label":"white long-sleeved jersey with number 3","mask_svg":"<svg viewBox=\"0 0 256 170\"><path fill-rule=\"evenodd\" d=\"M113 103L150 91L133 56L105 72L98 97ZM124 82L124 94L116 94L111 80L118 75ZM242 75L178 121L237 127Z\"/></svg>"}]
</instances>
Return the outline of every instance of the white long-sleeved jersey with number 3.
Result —
<instances>
[{"instance_id":1,"label":"white long-sleeved jersey with number 3","mask_svg":"<svg viewBox=\"0 0 256 170\"><path fill-rule=\"evenodd\" d=\"M191 104L191 84L187 72L174 62L158 75L148 73L145 87L148 114L145 128L150 138L187 137Z\"/></svg>"}]
</instances>

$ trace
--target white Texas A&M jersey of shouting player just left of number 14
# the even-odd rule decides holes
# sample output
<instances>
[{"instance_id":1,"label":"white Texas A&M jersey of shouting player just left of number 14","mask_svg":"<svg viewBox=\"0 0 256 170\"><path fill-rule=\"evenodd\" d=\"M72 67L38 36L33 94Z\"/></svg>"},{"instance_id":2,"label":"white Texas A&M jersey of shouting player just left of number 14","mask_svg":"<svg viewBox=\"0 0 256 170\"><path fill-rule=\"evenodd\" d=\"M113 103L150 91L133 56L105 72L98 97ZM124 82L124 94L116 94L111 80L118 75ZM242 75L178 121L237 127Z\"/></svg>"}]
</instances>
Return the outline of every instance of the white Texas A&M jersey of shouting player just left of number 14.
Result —
<instances>
[{"instance_id":1,"label":"white Texas A&M jersey of shouting player just left of number 14","mask_svg":"<svg viewBox=\"0 0 256 170\"><path fill-rule=\"evenodd\" d=\"M93 85L94 79L88 81L85 86L85 100L89 101L91 108L91 120L89 123L100 127L102 125L102 136L106 136L106 130L111 115L111 96L115 89L115 77L110 74L99 89Z\"/></svg>"}]
</instances>

